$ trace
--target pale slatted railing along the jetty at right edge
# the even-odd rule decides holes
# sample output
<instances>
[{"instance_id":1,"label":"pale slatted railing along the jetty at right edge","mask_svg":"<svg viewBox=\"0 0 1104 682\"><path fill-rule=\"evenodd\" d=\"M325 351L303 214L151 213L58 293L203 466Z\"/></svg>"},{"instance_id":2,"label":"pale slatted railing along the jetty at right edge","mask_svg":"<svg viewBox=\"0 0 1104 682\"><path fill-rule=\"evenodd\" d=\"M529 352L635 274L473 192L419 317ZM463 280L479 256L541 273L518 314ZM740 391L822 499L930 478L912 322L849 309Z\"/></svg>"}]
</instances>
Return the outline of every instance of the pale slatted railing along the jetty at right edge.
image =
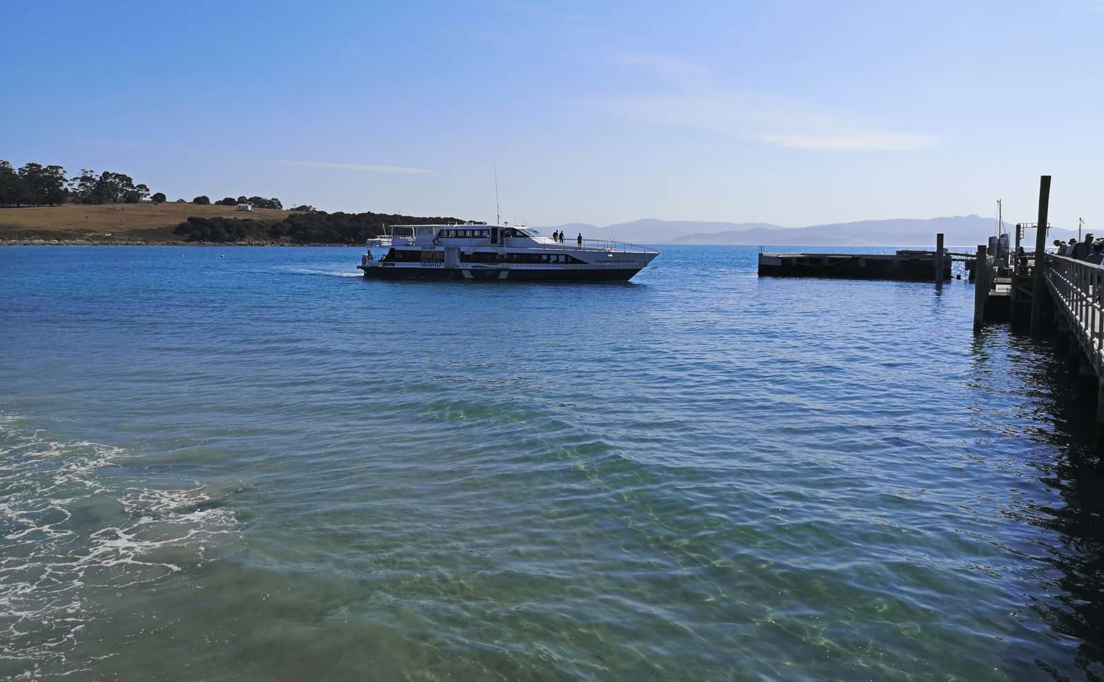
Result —
<instances>
[{"instance_id":1,"label":"pale slatted railing along the jetty at right edge","mask_svg":"<svg viewBox=\"0 0 1104 682\"><path fill-rule=\"evenodd\" d=\"M1104 370L1104 266L1048 254L1044 276L1097 375Z\"/></svg>"}]
</instances>

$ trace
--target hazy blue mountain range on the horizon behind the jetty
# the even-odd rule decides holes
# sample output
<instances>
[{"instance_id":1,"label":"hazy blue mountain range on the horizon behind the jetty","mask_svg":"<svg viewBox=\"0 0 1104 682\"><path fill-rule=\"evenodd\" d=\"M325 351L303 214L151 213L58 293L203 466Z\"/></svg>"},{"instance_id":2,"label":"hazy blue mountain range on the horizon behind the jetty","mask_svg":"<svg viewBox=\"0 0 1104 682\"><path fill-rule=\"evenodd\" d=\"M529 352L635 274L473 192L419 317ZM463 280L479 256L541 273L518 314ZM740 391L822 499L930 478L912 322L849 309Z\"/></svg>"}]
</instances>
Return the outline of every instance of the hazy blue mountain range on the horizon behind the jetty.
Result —
<instances>
[{"instance_id":1,"label":"hazy blue mountain range on the horizon behind the jetty","mask_svg":"<svg viewBox=\"0 0 1104 682\"><path fill-rule=\"evenodd\" d=\"M1016 223L1005 223L1013 232ZM771 223L709 223L644 219L617 225L569 223L541 227L545 234L562 230L569 237L583 233L585 238L607 238L641 244L720 244L749 246L934 246L935 234L944 234L947 246L985 244L996 231L996 220L979 215L947 217L893 219L830 223L807 227L783 227ZM1048 243L1069 241L1078 233L1052 227ZM1104 235L1102 235L1104 236ZM1015 239L1015 233L1012 234ZM1034 246L1034 232L1026 234L1028 249Z\"/></svg>"}]
</instances>

